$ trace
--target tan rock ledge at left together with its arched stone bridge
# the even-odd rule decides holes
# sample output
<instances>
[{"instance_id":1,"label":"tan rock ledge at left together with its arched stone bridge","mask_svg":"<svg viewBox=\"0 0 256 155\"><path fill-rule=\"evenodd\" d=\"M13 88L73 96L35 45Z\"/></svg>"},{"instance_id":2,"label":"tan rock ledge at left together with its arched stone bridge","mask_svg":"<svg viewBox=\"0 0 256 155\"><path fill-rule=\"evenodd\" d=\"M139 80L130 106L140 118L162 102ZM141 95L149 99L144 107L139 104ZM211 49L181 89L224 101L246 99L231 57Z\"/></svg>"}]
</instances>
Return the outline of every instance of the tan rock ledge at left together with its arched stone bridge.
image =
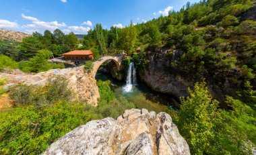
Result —
<instances>
[{"instance_id":1,"label":"tan rock ledge at left together with its arched stone bridge","mask_svg":"<svg viewBox=\"0 0 256 155\"><path fill-rule=\"evenodd\" d=\"M69 88L73 91L73 100L85 101L90 105L96 106L100 99L98 86L96 85L96 72L100 65L106 61L113 60L120 69L124 54L117 56L104 56L95 61L92 72L85 72L84 66L75 68L53 69L46 72L38 72L37 74L28 74L20 70L13 70L12 72L0 72L0 78L6 77L8 79L5 89L17 84L26 85L45 85L47 79L55 76L64 76L69 82Z\"/></svg>"}]
</instances>

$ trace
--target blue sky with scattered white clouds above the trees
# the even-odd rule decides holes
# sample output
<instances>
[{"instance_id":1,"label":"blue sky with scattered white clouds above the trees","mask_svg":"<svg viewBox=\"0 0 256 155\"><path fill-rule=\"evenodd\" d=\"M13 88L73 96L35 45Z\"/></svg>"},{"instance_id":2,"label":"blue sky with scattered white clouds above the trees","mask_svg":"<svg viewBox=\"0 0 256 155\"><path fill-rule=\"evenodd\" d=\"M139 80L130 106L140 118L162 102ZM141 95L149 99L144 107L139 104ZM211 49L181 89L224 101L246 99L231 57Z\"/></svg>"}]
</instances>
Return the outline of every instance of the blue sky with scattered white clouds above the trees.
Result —
<instances>
[{"instance_id":1,"label":"blue sky with scattered white clouds above the trees","mask_svg":"<svg viewBox=\"0 0 256 155\"><path fill-rule=\"evenodd\" d=\"M199 0L0 0L0 28L32 34L62 30L87 34L96 23L123 28L179 11Z\"/></svg>"}]
</instances>

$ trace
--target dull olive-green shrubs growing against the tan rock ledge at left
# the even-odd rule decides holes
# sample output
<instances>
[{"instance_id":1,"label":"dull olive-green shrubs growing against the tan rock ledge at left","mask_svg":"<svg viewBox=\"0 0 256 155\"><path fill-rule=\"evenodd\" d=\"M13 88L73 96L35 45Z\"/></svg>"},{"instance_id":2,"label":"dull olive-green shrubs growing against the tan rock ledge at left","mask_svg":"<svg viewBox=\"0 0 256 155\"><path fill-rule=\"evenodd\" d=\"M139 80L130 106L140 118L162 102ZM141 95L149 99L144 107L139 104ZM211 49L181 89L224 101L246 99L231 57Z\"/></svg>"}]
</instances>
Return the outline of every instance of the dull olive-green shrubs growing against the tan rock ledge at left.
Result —
<instances>
[{"instance_id":1,"label":"dull olive-green shrubs growing against the tan rock ledge at left","mask_svg":"<svg viewBox=\"0 0 256 155\"><path fill-rule=\"evenodd\" d=\"M44 87L34 85L16 85L9 90L14 104L18 105L52 105L58 101L69 101L71 91L67 89L67 79L56 76L49 79Z\"/></svg>"}]
</instances>

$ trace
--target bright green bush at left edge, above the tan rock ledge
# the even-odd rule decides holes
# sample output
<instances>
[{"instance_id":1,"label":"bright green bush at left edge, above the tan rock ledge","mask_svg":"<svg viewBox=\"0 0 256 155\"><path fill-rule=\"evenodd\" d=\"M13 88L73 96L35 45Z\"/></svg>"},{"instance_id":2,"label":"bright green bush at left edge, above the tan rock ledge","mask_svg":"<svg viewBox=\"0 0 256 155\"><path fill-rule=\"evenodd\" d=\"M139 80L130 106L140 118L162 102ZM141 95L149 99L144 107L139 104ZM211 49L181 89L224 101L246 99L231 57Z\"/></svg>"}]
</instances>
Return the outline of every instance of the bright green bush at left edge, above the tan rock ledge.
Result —
<instances>
[{"instance_id":1,"label":"bright green bush at left edge, above the tan rock ledge","mask_svg":"<svg viewBox=\"0 0 256 155\"><path fill-rule=\"evenodd\" d=\"M3 70L4 68L17 69L18 63L15 62L15 60L9 58L8 56L0 54L0 70Z\"/></svg>"}]
</instances>

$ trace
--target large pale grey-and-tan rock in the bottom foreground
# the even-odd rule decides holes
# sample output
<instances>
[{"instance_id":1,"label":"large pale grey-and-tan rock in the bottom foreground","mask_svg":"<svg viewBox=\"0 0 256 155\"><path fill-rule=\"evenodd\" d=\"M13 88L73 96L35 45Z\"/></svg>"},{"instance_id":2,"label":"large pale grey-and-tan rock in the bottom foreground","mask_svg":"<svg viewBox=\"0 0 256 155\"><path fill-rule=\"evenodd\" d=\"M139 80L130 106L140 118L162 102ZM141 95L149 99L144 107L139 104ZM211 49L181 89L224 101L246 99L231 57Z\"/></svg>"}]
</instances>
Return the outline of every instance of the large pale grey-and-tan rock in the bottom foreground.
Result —
<instances>
[{"instance_id":1,"label":"large pale grey-and-tan rock in the bottom foreground","mask_svg":"<svg viewBox=\"0 0 256 155\"><path fill-rule=\"evenodd\" d=\"M190 154L189 146L167 113L125 110L81 125L54 142L48 154Z\"/></svg>"}]
</instances>

